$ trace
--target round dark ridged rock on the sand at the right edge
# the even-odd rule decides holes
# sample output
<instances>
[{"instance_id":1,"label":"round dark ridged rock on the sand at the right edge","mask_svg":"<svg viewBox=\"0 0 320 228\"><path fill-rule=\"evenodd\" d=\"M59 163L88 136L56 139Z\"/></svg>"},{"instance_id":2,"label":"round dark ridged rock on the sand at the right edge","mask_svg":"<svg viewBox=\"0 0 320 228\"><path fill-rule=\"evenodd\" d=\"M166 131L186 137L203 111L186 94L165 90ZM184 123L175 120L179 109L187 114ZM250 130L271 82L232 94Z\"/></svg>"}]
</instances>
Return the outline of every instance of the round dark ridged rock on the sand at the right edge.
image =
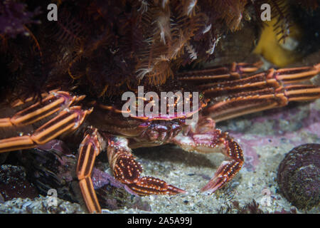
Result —
<instances>
[{"instance_id":1,"label":"round dark ridged rock on the sand at the right edge","mask_svg":"<svg viewBox=\"0 0 320 228\"><path fill-rule=\"evenodd\" d=\"M279 165L280 191L298 209L311 209L320 202L320 144L294 147Z\"/></svg>"}]
</instances>

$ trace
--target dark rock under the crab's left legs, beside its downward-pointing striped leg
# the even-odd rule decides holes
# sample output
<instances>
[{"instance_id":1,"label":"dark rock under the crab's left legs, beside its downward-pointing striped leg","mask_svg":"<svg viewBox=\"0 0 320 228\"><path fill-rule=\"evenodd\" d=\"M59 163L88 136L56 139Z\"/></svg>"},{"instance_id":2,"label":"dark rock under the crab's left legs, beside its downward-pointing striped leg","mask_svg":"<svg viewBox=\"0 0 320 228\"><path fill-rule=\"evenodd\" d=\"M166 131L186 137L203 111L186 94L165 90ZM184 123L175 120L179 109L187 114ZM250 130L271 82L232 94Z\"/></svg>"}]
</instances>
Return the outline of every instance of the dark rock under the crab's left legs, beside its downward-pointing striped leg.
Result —
<instances>
[{"instance_id":1,"label":"dark rock under the crab's left legs, beside its downward-pointing striped leg","mask_svg":"<svg viewBox=\"0 0 320 228\"><path fill-rule=\"evenodd\" d=\"M73 194L73 167L76 157L60 140L52 140L46 145L30 149L21 155L28 179L46 196L48 190L55 189L60 199L77 202Z\"/></svg>"}]
</instances>

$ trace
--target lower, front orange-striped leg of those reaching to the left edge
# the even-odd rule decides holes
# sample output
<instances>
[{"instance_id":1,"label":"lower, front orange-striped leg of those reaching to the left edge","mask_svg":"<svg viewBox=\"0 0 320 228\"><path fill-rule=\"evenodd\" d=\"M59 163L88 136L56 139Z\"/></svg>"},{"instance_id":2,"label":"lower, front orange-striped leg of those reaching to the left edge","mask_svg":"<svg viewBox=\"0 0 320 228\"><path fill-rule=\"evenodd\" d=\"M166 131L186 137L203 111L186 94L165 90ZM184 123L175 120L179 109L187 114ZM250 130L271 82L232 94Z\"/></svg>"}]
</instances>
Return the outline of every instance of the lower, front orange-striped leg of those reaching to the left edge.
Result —
<instances>
[{"instance_id":1,"label":"lower, front orange-striped leg of those reaching to the left edge","mask_svg":"<svg viewBox=\"0 0 320 228\"><path fill-rule=\"evenodd\" d=\"M43 145L63 133L79 128L85 117L91 112L92 110L82 110L80 106L65 108L55 118L38 128L32 135L0 140L0 152L23 150Z\"/></svg>"}]
</instances>

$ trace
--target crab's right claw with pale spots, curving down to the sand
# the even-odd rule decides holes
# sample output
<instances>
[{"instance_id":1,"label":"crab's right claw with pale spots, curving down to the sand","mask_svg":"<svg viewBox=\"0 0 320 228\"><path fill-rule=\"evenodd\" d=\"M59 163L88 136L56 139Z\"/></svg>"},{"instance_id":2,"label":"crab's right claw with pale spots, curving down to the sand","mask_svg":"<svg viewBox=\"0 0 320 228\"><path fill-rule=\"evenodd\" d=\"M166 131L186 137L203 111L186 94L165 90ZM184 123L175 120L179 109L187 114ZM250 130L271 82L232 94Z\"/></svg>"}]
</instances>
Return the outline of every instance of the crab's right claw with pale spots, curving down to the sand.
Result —
<instances>
[{"instance_id":1,"label":"crab's right claw with pale spots, curving down to the sand","mask_svg":"<svg viewBox=\"0 0 320 228\"><path fill-rule=\"evenodd\" d=\"M228 133L215 129L212 119L200 121L196 129L179 133L172 142L183 150L201 153L222 152L228 160L222 162L215 175L201 191L215 192L233 179L243 165L242 149Z\"/></svg>"}]
</instances>

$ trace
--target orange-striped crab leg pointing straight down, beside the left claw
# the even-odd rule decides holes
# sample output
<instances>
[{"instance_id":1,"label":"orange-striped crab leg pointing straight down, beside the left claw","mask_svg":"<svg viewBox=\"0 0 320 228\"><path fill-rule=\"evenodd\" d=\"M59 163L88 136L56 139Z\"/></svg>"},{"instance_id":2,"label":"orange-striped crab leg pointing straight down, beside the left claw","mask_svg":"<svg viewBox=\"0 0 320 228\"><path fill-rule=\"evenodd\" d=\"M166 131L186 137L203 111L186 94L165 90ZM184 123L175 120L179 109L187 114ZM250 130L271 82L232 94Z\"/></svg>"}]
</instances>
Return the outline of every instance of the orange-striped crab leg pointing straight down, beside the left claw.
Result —
<instances>
[{"instance_id":1,"label":"orange-striped crab leg pointing straight down, beside the left claw","mask_svg":"<svg viewBox=\"0 0 320 228\"><path fill-rule=\"evenodd\" d=\"M90 213L101 213L100 204L91 180L95 157L97 157L102 150L100 145L101 140L102 138L100 134L97 133L97 129L90 128L79 147L77 175L82 197L85 199L85 204Z\"/></svg>"}]
</instances>

